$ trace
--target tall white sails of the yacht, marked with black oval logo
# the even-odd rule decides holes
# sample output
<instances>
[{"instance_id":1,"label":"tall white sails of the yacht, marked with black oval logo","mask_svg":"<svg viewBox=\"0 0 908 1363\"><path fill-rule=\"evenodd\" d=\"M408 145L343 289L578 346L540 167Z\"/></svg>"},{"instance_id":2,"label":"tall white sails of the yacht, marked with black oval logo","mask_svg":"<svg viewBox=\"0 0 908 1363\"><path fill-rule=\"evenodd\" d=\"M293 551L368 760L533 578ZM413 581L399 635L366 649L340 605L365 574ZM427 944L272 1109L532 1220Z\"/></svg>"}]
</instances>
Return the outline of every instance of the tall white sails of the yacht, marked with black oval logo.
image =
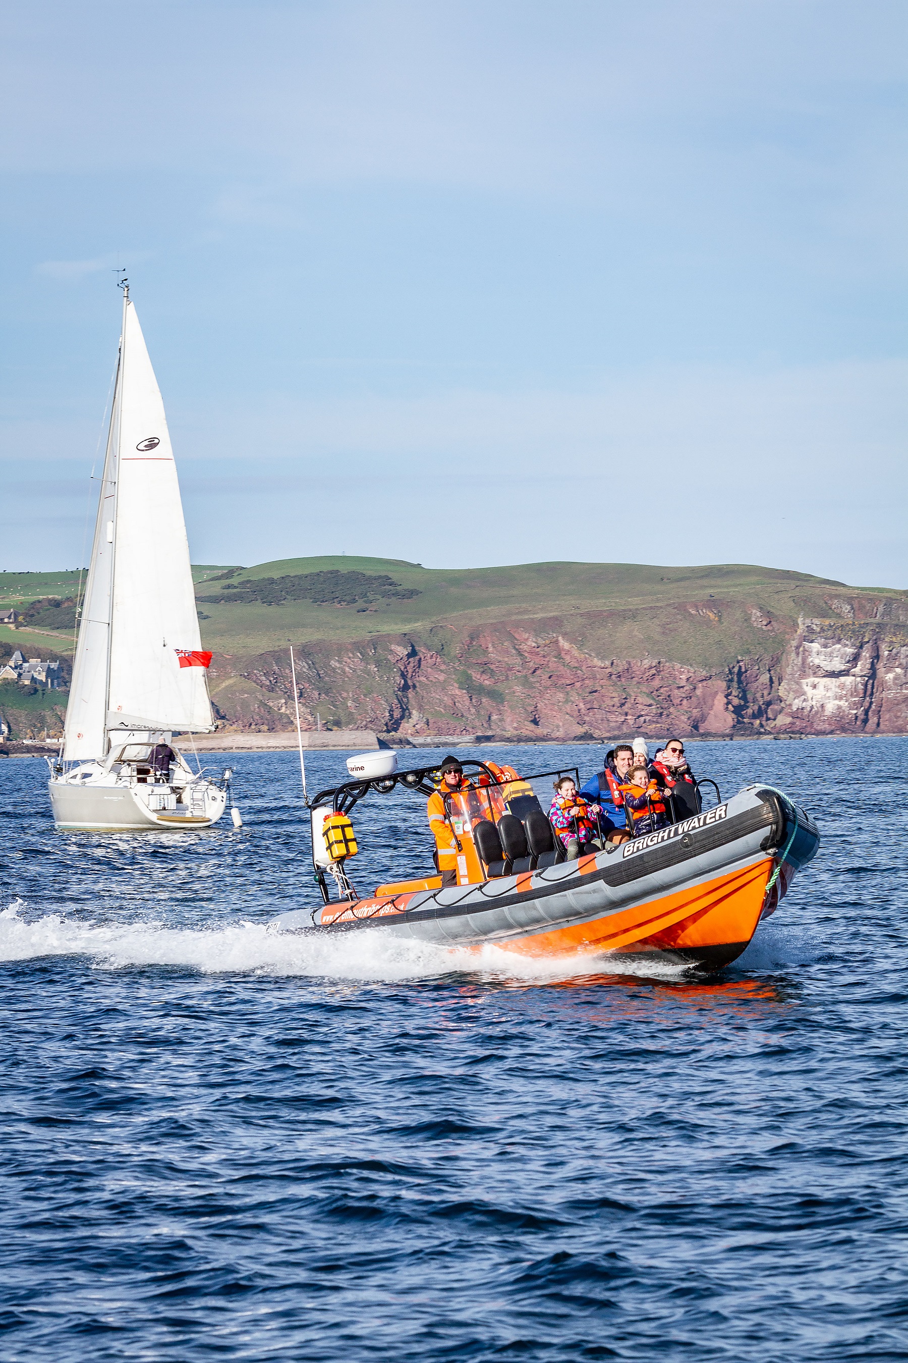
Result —
<instances>
[{"instance_id":1,"label":"tall white sails of the yacht, marked with black oval logo","mask_svg":"<svg viewBox=\"0 0 908 1363\"><path fill-rule=\"evenodd\" d=\"M67 761L99 758L110 729L212 729L189 544L167 421L135 304L120 365L67 713Z\"/></svg>"}]
</instances>

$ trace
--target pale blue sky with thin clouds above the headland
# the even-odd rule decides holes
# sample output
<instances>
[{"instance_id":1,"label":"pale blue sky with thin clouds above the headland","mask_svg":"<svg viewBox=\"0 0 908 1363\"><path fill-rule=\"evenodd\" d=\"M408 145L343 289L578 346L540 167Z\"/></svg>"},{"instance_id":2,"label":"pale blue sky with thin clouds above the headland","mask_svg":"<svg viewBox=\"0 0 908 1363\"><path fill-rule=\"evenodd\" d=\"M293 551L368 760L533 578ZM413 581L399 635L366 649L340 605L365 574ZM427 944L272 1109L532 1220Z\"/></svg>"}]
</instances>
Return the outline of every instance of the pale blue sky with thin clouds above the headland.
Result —
<instances>
[{"instance_id":1,"label":"pale blue sky with thin clouds above the headland","mask_svg":"<svg viewBox=\"0 0 908 1363\"><path fill-rule=\"evenodd\" d=\"M84 562L124 267L196 563L908 587L907 67L904 0L8 0L0 570Z\"/></svg>"}]
</instances>

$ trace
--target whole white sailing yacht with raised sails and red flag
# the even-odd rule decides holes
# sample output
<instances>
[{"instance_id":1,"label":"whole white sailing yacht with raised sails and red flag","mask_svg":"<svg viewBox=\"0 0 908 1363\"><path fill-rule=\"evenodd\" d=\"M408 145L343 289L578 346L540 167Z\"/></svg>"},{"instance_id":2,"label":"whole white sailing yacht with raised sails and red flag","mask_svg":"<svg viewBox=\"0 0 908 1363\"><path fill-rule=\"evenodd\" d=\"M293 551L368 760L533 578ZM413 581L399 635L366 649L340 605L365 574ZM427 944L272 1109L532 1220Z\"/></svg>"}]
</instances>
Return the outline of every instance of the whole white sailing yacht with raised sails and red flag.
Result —
<instances>
[{"instance_id":1,"label":"whole white sailing yacht with raised sails and red flag","mask_svg":"<svg viewBox=\"0 0 908 1363\"><path fill-rule=\"evenodd\" d=\"M221 818L230 771L208 780L172 746L174 732L214 729L211 653L199 634L163 402L128 281L121 288L117 379L50 806L60 829L185 831Z\"/></svg>"}]
</instances>

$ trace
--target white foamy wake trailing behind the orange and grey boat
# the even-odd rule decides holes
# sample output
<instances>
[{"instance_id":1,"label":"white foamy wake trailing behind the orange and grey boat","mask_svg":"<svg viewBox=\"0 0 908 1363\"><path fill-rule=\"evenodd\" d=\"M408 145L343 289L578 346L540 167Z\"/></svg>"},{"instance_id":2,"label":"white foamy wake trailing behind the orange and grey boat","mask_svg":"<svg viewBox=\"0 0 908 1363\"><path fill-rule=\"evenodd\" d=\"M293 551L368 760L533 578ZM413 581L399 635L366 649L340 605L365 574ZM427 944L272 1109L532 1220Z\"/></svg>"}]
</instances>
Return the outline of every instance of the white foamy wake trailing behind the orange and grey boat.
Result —
<instances>
[{"instance_id":1,"label":"white foamy wake trailing behind the orange and grey boat","mask_svg":"<svg viewBox=\"0 0 908 1363\"><path fill-rule=\"evenodd\" d=\"M187 928L159 920L97 923L61 913L31 917L25 909L16 901L0 913L0 961L83 955L106 969L169 965L210 975L248 972L385 983L449 975L540 983L603 973L668 980L686 973L668 962L641 964L607 953L525 957L491 945L470 949L406 942L369 928L323 936L275 932L267 924L242 920Z\"/></svg>"}]
</instances>

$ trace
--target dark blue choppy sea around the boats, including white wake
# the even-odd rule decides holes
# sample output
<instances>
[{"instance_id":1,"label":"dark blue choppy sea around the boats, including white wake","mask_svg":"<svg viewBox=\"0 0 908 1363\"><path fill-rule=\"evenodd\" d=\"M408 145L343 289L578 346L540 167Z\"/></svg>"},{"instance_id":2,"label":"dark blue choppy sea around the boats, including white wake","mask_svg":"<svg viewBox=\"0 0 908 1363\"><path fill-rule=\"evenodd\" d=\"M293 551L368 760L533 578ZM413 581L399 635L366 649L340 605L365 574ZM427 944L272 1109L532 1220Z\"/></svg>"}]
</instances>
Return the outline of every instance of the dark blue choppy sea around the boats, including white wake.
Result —
<instances>
[{"instance_id":1,"label":"dark blue choppy sea around the boats, including white wake","mask_svg":"<svg viewBox=\"0 0 908 1363\"><path fill-rule=\"evenodd\" d=\"M908 740L689 751L824 834L709 981L265 932L316 902L293 754L182 837L0 762L3 1358L908 1358ZM422 819L357 816L362 887Z\"/></svg>"}]
</instances>

